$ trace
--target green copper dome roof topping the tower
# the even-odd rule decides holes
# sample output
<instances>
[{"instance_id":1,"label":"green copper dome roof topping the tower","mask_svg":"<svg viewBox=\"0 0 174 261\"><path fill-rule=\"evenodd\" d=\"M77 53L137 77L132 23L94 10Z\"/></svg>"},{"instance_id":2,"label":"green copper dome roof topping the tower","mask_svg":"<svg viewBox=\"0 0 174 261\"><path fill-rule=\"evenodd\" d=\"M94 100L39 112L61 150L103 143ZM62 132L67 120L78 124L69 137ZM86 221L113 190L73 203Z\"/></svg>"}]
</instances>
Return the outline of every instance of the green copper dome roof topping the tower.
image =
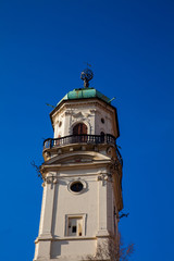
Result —
<instances>
[{"instance_id":1,"label":"green copper dome roof topping the tower","mask_svg":"<svg viewBox=\"0 0 174 261\"><path fill-rule=\"evenodd\" d=\"M89 99L89 98L99 98L99 99L105 101L107 103L110 103L110 101L111 101L107 96L102 95L100 91L98 91L95 88L74 89L72 91L69 91L67 95L65 95L61 101L76 100L76 99ZM60 104L61 101L58 102L58 104Z\"/></svg>"}]
</instances>

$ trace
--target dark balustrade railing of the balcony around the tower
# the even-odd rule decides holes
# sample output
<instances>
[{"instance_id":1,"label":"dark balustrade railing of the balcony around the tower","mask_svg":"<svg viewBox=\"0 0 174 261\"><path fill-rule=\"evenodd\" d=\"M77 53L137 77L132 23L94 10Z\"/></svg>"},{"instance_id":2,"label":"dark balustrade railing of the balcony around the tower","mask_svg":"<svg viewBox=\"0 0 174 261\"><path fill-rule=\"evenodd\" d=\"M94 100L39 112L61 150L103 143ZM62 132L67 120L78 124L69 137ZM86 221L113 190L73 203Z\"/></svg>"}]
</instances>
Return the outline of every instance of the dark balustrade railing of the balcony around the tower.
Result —
<instances>
[{"instance_id":1,"label":"dark balustrade railing of the balcony around the tower","mask_svg":"<svg viewBox=\"0 0 174 261\"><path fill-rule=\"evenodd\" d=\"M61 146L71 145L71 144L89 144L89 145L99 145L99 144L111 144L116 147L115 137L111 134L105 135L70 135L61 138L48 138L44 141L44 150L51 148L59 148ZM122 156L116 147L116 154L120 163L123 165Z\"/></svg>"}]
</instances>

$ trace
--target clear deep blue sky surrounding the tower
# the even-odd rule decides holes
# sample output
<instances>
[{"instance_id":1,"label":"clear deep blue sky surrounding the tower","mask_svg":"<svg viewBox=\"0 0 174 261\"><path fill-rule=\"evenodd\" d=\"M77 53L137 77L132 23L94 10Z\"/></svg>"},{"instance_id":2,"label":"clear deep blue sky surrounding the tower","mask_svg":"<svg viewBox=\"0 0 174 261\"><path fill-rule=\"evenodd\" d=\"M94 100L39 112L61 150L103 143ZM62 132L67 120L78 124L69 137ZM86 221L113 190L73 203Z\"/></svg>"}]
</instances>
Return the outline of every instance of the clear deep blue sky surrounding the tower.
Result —
<instances>
[{"instance_id":1,"label":"clear deep blue sky surrounding the tower","mask_svg":"<svg viewBox=\"0 0 174 261\"><path fill-rule=\"evenodd\" d=\"M132 260L173 260L174 1L1 0L0 260L29 261L38 235L42 162L51 109L83 86L117 108L124 159L120 222Z\"/></svg>"}]
</instances>

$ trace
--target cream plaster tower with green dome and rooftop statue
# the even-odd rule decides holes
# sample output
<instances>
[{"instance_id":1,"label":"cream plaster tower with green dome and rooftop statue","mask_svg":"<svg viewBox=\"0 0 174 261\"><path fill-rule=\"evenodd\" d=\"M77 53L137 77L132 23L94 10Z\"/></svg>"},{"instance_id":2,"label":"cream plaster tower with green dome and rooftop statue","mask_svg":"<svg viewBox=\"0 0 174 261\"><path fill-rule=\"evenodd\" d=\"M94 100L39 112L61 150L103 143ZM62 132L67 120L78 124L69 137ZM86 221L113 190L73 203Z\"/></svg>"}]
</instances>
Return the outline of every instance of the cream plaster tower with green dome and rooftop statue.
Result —
<instances>
[{"instance_id":1,"label":"cream plaster tower with green dome and rooftop statue","mask_svg":"<svg viewBox=\"0 0 174 261\"><path fill-rule=\"evenodd\" d=\"M89 87L66 94L50 113L53 138L44 141L42 206L34 261L85 260L117 234L122 158L116 109Z\"/></svg>"}]
</instances>

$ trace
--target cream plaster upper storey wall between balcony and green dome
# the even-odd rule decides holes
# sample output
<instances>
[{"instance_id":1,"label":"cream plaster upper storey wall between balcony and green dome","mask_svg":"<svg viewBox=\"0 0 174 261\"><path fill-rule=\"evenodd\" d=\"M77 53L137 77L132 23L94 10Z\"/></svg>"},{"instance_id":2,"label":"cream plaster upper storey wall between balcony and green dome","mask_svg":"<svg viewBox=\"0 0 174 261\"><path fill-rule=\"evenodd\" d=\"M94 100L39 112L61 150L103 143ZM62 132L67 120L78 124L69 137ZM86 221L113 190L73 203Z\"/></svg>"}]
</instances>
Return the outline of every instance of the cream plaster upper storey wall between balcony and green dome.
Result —
<instances>
[{"instance_id":1,"label":"cream plaster upper storey wall between balcony and green dome","mask_svg":"<svg viewBox=\"0 0 174 261\"><path fill-rule=\"evenodd\" d=\"M51 119L54 138L72 135L74 125L80 122L87 125L88 134L100 135L101 132L104 132L117 137L114 108L105 105L105 102L97 99L66 101L52 113ZM104 120L104 123L101 122L101 119Z\"/></svg>"}]
</instances>

